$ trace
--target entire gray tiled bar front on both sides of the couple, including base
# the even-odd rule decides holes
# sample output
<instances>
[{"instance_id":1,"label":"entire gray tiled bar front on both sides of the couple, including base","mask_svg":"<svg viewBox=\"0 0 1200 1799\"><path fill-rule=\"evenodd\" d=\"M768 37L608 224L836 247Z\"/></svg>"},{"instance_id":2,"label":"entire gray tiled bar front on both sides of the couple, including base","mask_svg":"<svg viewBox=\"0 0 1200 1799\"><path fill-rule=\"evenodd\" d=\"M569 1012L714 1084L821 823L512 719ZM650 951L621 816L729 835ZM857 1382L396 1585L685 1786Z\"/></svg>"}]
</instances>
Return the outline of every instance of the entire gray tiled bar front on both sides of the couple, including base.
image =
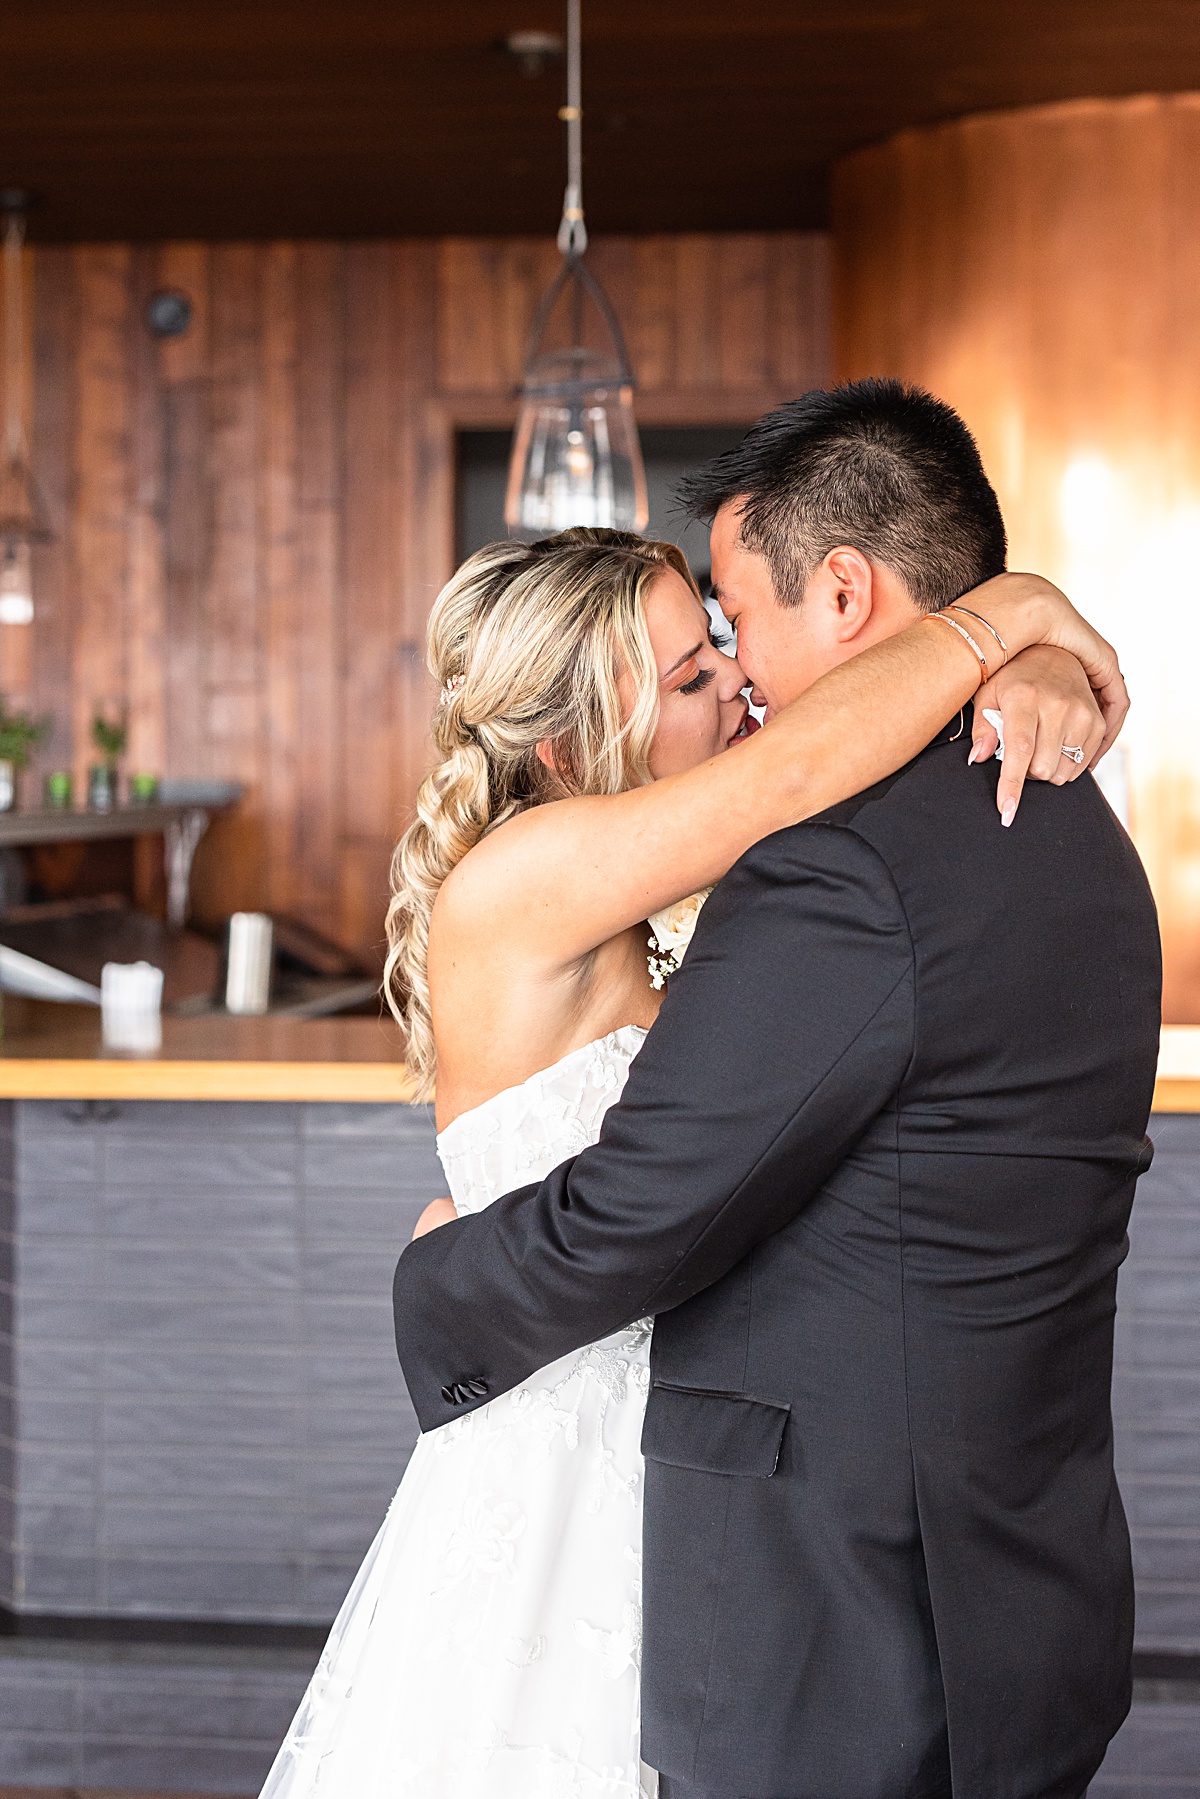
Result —
<instances>
[{"instance_id":1,"label":"entire gray tiled bar front on both sides of the couple, including base","mask_svg":"<svg viewBox=\"0 0 1200 1799\"><path fill-rule=\"evenodd\" d=\"M1117 1328L1139 1646L1200 1653L1200 1119L1157 1117ZM428 1112L0 1106L0 1599L324 1623L416 1439L390 1274ZM0 1644L0 1779L248 1794L311 1657ZM1200 1799L1139 1702L1094 1799Z\"/></svg>"}]
</instances>

